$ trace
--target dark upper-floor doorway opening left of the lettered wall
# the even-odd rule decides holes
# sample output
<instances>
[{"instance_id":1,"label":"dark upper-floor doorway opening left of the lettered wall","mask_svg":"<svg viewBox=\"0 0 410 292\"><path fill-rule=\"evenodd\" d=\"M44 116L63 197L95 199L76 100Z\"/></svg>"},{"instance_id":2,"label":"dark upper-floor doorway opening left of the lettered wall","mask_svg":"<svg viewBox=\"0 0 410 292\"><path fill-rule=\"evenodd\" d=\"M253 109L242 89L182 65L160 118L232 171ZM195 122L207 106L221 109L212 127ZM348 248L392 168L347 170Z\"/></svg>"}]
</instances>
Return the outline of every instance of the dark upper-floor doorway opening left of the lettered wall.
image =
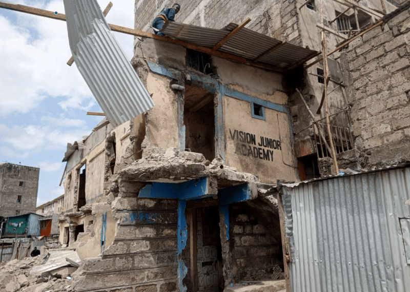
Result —
<instances>
[{"instance_id":1,"label":"dark upper-floor doorway opening left of the lettered wall","mask_svg":"<svg viewBox=\"0 0 410 292\"><path fill-rule=\"evenodd\" d=\"M185 148L212 161L215 158L214 94L186 85L183 123Z\"/></svg>"}]
</instances>

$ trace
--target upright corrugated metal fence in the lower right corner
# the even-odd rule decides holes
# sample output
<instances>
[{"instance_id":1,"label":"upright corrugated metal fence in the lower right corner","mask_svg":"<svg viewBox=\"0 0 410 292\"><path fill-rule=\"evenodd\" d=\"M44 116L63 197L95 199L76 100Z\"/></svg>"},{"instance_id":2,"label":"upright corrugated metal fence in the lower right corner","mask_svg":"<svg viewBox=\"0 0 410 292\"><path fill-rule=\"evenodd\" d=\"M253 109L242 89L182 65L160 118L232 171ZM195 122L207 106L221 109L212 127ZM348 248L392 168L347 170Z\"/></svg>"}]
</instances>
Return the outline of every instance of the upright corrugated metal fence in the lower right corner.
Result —
<instances>
[{"instance_id":1,"label":"upright corrugated metal fence in the lower right corner","mask_svg":"<svg viewBox=\"0 0 410 292\"><path fill-rule=\"evenodd\" d=\"M282 186L292 290L408 291L409 181L405 168Z\"/></svg>"}]
</instances>

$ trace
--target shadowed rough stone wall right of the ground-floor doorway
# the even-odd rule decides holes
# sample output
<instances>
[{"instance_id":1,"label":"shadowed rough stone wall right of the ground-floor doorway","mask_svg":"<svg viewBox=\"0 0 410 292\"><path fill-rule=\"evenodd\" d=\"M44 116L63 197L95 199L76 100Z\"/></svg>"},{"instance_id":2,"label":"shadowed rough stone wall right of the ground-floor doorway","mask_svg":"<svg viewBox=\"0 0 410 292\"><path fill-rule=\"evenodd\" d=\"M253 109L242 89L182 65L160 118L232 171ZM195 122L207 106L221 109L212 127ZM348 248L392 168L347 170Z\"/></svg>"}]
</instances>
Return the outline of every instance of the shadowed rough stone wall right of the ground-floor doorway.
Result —
<instances>
[{"instance_id":1,"label":"shadowed rough stone wall right of the ground-floor doorway","mask_svg":"<svg viewBox=\"0 0 410 292\"><path fill-rule=\"evenodd\" d=\"M232 274L236 283L271 279L276 266L283 270L279 215L263 205L255 200L231 207Z\"/></svg>"}]
</instances>

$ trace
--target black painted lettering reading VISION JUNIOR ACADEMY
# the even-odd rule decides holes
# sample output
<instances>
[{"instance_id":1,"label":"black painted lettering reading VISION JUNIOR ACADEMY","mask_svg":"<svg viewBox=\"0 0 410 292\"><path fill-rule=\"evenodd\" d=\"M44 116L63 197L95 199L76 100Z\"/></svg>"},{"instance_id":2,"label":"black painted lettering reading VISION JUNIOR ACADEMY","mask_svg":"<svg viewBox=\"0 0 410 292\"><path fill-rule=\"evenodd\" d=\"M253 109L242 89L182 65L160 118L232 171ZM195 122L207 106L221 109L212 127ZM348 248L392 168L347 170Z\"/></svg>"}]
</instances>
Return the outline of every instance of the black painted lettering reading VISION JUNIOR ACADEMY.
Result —
<instances>
[{"instance_id":1,"label":"black painted lettering reading VISION JUNIOR ACADEMY","mask_svg":"<svg viewBox=\"0 0 410 292\"><path fill-rule=\"evenodd\" d=\"M238 130L232 131L231 129L229 129L229 134L231 136L231 139L237 142L235 144L235 152L242 154L243 156L252 156L253 158L273 161L274 151L270 149L282 151L282 145L280 143L280 140L262 136L256 139L255 134L242 132Z\"/></svg>"}]
</instances>

